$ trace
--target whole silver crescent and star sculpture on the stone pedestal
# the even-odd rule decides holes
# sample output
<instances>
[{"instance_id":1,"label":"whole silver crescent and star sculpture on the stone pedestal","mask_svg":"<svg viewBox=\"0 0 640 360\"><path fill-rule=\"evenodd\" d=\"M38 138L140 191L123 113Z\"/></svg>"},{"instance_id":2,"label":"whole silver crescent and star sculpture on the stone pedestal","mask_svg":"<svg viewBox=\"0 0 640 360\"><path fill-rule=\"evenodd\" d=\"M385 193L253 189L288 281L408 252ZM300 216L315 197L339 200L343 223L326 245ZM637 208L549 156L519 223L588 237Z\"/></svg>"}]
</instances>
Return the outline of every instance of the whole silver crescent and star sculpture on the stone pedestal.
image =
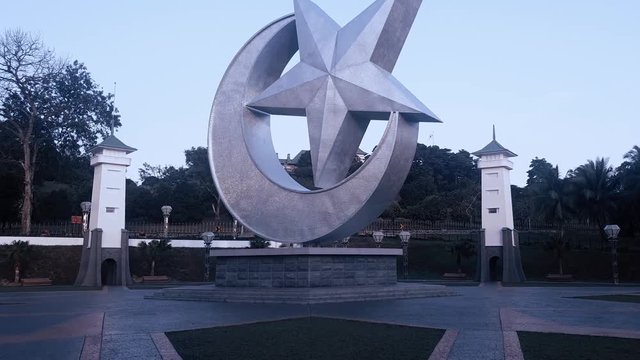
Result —
<instances>
[{"instance_id":1,"label":"whole silver crescent and star sculpture on the stone pedestal","mask_svg":"<svg viewBox=\"0 0 640 360\"><path fill-rule=\"evenodd\" d=\"M418 123L439 121L390 74L420 3L379 0L340 28L311 1L295 0L295 15L267 25L238 52L215 96L208 142L214 183L238 221L282 243L329 241L359 231L394 200ZM298 50L300 64L281 75ZM307 117L320 190L286 173L269 114ZM372 119L389 120L384 135L344 178Z\"/></svg>"}]
</instances>

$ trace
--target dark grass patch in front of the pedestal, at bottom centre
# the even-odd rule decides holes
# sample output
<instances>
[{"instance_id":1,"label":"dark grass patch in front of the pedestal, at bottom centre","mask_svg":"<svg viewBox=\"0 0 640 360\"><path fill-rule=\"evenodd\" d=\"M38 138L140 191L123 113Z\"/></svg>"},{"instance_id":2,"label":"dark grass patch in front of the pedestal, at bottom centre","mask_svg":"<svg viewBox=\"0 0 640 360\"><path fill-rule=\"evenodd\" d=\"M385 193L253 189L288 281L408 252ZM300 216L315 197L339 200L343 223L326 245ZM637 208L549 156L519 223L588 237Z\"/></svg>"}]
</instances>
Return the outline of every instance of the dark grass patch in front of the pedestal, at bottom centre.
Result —
<instances>
[{"instance_id":1,"label":"dark grass patch in front of the pedestal, at bottom centre","mask_svg":"<svg viewBox=\"0 0 640 360\"><path fill-rule=\"evenodd\" d=\"M183 359L426 359L443 334L309 317L176 331L167 337Z\"/></svg>"}]
</instances>

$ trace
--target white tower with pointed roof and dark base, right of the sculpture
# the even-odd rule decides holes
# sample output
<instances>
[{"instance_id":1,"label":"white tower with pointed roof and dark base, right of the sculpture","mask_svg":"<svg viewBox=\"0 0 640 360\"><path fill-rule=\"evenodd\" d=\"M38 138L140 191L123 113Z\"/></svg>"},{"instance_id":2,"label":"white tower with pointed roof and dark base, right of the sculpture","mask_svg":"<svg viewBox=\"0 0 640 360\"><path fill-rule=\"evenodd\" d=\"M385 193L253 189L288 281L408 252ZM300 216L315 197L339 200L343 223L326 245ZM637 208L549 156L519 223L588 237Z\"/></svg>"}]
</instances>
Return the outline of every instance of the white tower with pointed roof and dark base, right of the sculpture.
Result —
<instances>
[{"instance_id":1,"label":"white tower with pointed roof and dark base, right of the sculpture","mask_svg":"<svg viewBox=\"0 0 640 360\"><path fill-rule=\"evenodd\" d=\"M518 233L513 226L510 171L517 156L498 141L493 128L493 140L473 153L479 157L482 197L482 236L478 252L480 281L524 281Z\"/></svg>"}]
</instances>

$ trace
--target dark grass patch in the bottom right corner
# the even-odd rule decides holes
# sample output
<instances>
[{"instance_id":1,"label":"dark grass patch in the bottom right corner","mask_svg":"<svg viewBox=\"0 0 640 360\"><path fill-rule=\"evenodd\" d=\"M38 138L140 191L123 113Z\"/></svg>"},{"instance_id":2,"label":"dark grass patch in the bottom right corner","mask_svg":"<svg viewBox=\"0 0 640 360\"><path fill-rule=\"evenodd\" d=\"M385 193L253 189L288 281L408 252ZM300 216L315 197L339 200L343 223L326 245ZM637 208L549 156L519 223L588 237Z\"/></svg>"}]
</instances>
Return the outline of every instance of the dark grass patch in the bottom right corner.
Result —
<instances>
[{"instance_id":1,"label":"dark grass patch in the bottom right corner","mask_svg":"<svg viewBox=\"0 0 640 360\"><path fill-rule=\"evenodd\" d=\"M518 331L525 359L637 359L639 339Z\"/></svg>"}]
</instances>

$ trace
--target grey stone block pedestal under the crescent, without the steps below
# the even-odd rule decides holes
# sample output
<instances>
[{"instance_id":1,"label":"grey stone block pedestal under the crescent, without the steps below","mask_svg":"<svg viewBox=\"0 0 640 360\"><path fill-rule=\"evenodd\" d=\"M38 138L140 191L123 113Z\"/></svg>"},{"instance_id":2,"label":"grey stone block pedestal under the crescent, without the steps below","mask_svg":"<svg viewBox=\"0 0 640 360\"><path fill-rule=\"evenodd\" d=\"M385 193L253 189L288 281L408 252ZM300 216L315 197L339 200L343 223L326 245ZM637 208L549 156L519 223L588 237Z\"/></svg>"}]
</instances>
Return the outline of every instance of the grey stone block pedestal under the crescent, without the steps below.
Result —
<instances>
[{"instance_id":1,"label":"grey stone block pedestal under the crescent, without the steps below","mask_svg":"<svg viewBox=\"0 0 640 360\"><path fill-rule=\"evenodd\" d=\"M212 250L217 287L314 288L393 285L400 249Z\"/></svg>"}]
</instances>

